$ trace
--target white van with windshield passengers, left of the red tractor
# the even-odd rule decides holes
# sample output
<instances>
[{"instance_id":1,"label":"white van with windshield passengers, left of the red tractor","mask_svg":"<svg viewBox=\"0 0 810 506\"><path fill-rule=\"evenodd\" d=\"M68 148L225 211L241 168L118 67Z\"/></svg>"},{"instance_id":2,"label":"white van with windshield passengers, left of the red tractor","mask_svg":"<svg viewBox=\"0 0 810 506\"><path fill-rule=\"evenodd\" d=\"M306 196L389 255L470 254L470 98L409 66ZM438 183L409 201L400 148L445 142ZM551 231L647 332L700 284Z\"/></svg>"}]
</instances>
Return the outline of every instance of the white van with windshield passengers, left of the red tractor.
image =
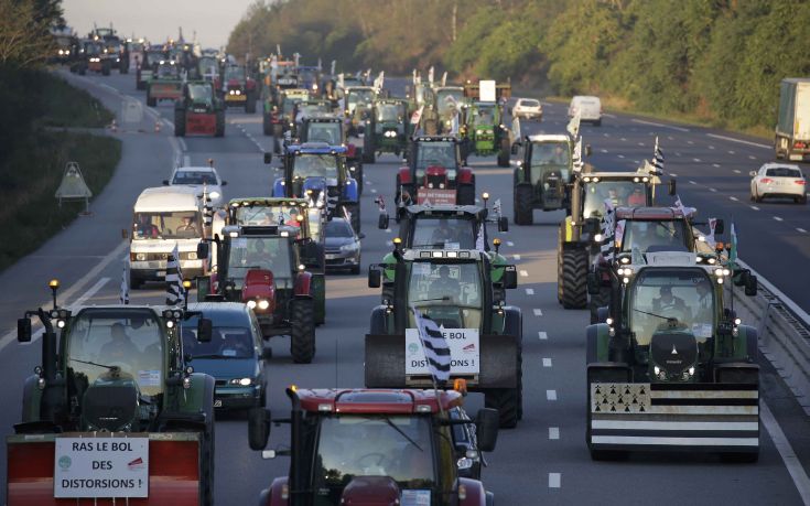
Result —
<instances>
[{"instance_id":1,"label":"white van with windshield passengers, left of the red tractor","mask_svg":"<svg viewBox=\"0 0 810 506\"><path fill-rule=\"evenodd\" d=\"M129 243L129 286L164 281L166 260L177 245L183 278L205 274L197 244L205 237L203 203L196 189L161 186L144 190L133 208Z\"/></svg>"}]
</instances>

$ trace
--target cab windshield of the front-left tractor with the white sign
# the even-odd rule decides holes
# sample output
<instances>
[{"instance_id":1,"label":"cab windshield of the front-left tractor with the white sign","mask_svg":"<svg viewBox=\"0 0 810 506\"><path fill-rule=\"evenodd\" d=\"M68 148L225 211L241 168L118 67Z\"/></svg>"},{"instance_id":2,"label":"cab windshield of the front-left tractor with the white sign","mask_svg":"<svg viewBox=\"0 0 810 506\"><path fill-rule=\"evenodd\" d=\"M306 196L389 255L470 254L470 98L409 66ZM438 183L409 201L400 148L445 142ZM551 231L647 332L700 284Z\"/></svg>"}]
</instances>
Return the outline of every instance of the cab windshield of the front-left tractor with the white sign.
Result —
<instances>
[{"instance_id":1,"label":"cab windshield of the front-left tractor with the white sign","mask_svg":"<svg viewBox=\"0 0 810 506\"><path fill-rule=\"evenodd\" d=\"M75 380L93 385L117 366L122 377L134 379L141 394L163 391L163 334L151 310L84 310L66 335L66 366Z\"/></svg>"}]
</instances>

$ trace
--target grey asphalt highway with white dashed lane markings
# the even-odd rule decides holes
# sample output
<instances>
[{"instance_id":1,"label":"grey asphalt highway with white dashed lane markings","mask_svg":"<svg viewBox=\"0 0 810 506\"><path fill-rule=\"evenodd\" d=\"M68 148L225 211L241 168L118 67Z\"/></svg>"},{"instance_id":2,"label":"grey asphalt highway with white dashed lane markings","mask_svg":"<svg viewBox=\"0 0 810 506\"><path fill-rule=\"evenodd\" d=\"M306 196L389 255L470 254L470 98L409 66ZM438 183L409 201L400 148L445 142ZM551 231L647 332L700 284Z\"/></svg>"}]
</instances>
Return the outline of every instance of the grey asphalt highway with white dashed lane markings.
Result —
<instances>
[{"instance_id":1,"label":"grey asphalt highway with white dashed lane markings","mask_svg":"<svg viewBox=\"0 0 810 506\"><path fill-rule=\"evenodd\" d=\"M134 76L77 77L69 79L100 98L111 110L120 110L125 97L143 101L134 88ZM397 89L395 88L395 94ZM3 435L20 420L23 379L39 364L39 341L19 345L14 320L24 310L48 300L47 280L63 283L61 300L67 304L115 303L119 297L126 243L121 229L130 226L131 206L143 187L156 186L169 176L177 158L193 164L215 160L228 181L225 197L267 195L273 169L262 163L262 150L271 139L261 133L261 117L228 111L226 137L172 137L166 123L173 108L163 103L154 110L162 129L154 131L155 118L148 112L137 126L119 125L123 140L121 163L106 191L91 203L91 217L77 219L40 250L0 274L4 297L0 303L0 383L3 405L0 428ZM561 132L568 118L562 105L544 105L540 123L526 123L530 132ZM652 154L655 136L667 155L666 171L677 174L679 194L702 217L723 217L726 228L737 225L741 256L758 272L806 310L810 295L801 266L810 262L810 234L806 206L748 202L748 171L770 160L773 151L760 140L693 127L655 123L624 116L609 116L602 127L583 126L584 141L593 147L590 160L601 169L633 170ZM727 139L726 139L727 138ZM715 455L633 455L627 461L592 462L585 446L585 353L586 311L565 311L557 302L555 245L560 213L536 212L536 225L511 224L511 169L499 169L495 158L471 158L478 192L500 198L510 220L501 237L501 252L518 265L519 288L507 299L523 312L525 416L514 430L499 434L497 450L487 456L484 483L498 504L738 504L793 505L810 499L807 469L810 464L810 423L779 376L763 364L764 406L773 418L764 417L762 454L756 464L728 464ZM715 166L716 165L716 166ZM392 202L395 172L399 161L389 154L365 168L363 195L364 272L390 248L393 234L376 228L374 197ZM777 219L778 218L778 219ZM727 235L726 235L727 237ZM162 303L165 291L159 286L130 293L132 303ZM363 386L363 337L368 315L379 293L367 288L366 277L336 274L327 281L326 324L317 330L317 355L310 365L295 365L289 357L287 338L272 338L274 356L267 363L268 406L284 416L289 401L283 388ZM467 408L474 413L483 406L471 394ZM766 430L767 426L767 430ZM775 428L779 428L778 431ZM217 421L217 504L255 504L261 488L272 477L287 473L289 460L262 461L247 443L247 423L241 415L224 415ZM782 433L782 437L778 434ZM777 434L774 437L773 434ZM788 444L798 460L785 460L777 451ZM288 429L273 427L270 445L288 444ZM0 475L6 476L6 452ZM790 466L790 467L788 467ZM802 478L803 476L803 478ZM798 485L797 485L798 484ZM0 504L4 504L0 487ZM804 494L804 495L802 495Z\"/></svg>"}]
</instances>

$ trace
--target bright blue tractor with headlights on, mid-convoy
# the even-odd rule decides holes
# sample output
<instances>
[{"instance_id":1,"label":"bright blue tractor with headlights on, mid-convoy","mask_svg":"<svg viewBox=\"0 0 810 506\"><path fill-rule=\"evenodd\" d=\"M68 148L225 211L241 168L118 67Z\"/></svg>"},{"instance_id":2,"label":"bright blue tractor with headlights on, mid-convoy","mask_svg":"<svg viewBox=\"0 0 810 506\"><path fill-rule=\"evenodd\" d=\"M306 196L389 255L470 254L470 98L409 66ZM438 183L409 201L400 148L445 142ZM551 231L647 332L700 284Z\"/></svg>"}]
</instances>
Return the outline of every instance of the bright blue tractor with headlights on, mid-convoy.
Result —
<instances>
[{"instance_id":1,"label":"bright blue tractor with headlights on, mid-convoy","mask_svg":"<svg viewBox=\"0 0 810 506\"><path fill-rule=\"evenodd\" d=\"M327 219L346 215L360 230L360 198L357 181L346 165L346 147L325 142L288 146L284 175L273 183L274 197L302 197L326 208ZM266 162L271 159L264 154Z\"/></svg>"}]
</instances>

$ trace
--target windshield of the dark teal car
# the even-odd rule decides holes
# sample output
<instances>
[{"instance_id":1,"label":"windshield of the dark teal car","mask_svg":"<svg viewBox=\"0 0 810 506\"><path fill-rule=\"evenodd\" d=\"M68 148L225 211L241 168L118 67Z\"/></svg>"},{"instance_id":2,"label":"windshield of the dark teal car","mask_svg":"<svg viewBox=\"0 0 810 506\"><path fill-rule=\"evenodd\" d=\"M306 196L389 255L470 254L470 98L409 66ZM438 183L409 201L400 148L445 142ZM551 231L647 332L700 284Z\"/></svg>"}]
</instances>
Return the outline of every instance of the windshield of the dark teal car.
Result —
<instances>
[{"instance_id":1,"label":"windshield of the dark teal car","mask_svg":"<svg viewBox=\"0 0 810 506\"><path fill-rule=\"evenodd\" d=\"M183 353L192 358L253 358L256 343L247 326L219 326L214 316L210 341L197 341L197 317L183 322Z\"/></svg>"}]
</instances>

